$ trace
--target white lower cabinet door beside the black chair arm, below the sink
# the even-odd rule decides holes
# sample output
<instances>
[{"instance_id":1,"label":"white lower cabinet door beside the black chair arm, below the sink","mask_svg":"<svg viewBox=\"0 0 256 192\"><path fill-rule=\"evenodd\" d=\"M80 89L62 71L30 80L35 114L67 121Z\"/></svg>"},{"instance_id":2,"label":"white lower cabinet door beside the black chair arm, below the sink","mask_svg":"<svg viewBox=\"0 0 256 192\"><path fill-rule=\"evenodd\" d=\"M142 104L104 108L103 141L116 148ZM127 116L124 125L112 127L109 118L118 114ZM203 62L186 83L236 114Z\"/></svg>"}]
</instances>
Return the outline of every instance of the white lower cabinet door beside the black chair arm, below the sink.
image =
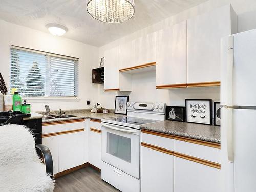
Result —
<instances>
[{"instance_id":1,"label":"white lower cabinet door beside the black chair arm, below the sink","mask_svg":"<svg viewBox=\"0 0 256 192\"><path fill-rule=\"evenodd\" d=\"M43 137L42 144L47 146L52 154L53 173L59 172L58 136Z\"/></svg>"}]
</instances>

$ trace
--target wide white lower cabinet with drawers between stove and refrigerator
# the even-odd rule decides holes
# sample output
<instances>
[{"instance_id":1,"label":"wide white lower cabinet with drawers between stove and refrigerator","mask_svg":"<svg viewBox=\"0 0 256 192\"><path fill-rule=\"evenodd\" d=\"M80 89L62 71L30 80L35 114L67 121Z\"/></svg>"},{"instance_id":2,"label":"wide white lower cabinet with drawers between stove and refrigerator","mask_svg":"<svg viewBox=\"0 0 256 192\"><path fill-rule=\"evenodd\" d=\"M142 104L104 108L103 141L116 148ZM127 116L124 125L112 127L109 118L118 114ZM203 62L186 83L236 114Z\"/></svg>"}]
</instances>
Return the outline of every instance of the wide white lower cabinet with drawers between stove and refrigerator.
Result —
<instances>
[{"instance_id":1,"label":"wide white lower cabinet with drawers between stove and refrigerator","mask_svg":"<svg viewBox=\"0 0 256 192\"><path fill-rule=\"evenodd\" d=\"M141 192L221 191L219 144L141 132Z\"/></svg>"}]
</instances>

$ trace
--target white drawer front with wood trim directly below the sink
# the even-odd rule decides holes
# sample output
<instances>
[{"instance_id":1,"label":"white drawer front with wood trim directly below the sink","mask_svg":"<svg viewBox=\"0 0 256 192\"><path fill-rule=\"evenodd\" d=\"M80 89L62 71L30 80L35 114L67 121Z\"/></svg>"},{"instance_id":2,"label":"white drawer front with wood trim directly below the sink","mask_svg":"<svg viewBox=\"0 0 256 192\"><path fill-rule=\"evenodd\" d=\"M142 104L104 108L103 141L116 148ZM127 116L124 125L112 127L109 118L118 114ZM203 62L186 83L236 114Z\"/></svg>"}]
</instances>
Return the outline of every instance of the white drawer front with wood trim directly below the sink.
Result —
<instances>
[{"instance_id":1,"label":"white drawer front with wood trim directly below the sink","mask_svg":"<svg viewBox=\"0 0 256 192\"><path fill-rule=\"evenodd\" d=\"M85 127L84 119L80 119L80 121L70 121L70 123L61 123L57 124L54 122L52 125L47 124L42 126L42 135L50 134L50 133L58 133L63 131L70 131L70 130L77 130L77 129L84 129Z\"/></svg>"}]
</instances>

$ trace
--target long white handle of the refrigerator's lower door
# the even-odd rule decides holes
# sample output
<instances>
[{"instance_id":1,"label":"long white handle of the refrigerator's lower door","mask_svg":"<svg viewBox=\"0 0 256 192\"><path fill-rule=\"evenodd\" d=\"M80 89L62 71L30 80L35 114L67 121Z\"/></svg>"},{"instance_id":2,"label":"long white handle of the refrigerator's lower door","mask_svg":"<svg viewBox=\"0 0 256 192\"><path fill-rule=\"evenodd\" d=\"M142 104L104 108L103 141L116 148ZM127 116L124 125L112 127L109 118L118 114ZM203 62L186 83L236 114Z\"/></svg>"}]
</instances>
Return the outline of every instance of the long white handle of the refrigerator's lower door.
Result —
<instances>
[{"instance_id":1,"label":"long white handle of the refrigerator's lower door","mask_svg":"<svg viewBox=\"0 0 256 192\"><path fill-rule=\"evenodd\" d=\"M234 162L233 150L233 109L227 109L227 154L228 161Z\"/></svg>"}]
</instances>

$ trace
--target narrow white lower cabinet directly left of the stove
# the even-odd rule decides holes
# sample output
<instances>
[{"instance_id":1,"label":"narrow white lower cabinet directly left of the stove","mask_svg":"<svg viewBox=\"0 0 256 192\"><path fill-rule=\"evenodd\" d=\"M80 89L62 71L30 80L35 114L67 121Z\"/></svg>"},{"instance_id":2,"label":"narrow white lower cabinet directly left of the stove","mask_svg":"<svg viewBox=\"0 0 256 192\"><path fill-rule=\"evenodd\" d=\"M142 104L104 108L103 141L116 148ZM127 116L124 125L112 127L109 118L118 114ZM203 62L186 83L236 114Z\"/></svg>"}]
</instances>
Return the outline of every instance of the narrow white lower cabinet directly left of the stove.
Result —
<instances>
[{"instance_id":1,"label":"narrow white lower cabinet directly left of the stove","mask_svg":"<svg viewBox=\"0 0 256 192\"><path fill-rule=\"evenodd\" d=\"M89 163L101 168L101 123L90 121L89 132Z\"/></svg>"}]
</instances>

